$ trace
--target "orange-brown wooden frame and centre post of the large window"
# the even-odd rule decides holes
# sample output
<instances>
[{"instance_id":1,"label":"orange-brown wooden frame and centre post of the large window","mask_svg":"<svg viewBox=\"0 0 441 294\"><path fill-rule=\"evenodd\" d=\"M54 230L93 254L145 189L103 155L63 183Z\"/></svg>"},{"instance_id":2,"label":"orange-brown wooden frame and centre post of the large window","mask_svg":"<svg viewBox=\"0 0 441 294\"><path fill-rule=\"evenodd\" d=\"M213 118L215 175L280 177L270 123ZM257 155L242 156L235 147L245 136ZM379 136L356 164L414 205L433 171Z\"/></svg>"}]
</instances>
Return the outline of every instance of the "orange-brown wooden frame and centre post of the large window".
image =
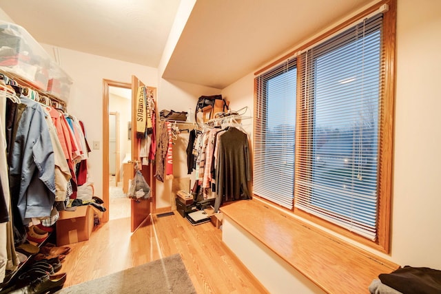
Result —
<instances>
[{"instance_id":1,"label":"orange-brown wooden frame and centre post of the large window","mask_svg":"<svg viewBox=\"0 0 441 294\"><path fill-rule=\"evenodd\" d=\"M355 240L356 242L360 242L361 244L364 244L366 246L369 246L373 249L376 249L383 253L389 253L390 251L390 235L391 235L391 200L392 200L392 169L393 169L393 118L394 118L394 101L395 101L395 81L396 81L396 0L383 0L378 3L375 3L373 6L367 8L366 10L354 15L353 17L347 19L347 21L344 21L340 23L340 25L337 25L335 28L332 28L331 30L328 30L324 34L321 34L320 36L316 37L315 39L312 39L311 41L305 43L304 45L300 46L300 48L296 48L296 50L293 50L286 54L285 56L281 57L277 61L274 61L270 65L267 65L266 67L263 67L261 70L258 70L258 72L255 72L255 75L258 76L259 74L263 74L264 72L267 72L275 65L278 65L279 63L286 61L289 58L292 58L293 56L297 56L297 99L296 99L296 109L297 112L300 109L300 91L302 89L301 83L301 75L304 74L301 70L300 62L301 62L301 56L298 54L298 52L301 52L302 50L305 50L306 48L311 48L311 46L316 45L322 41L325 41L326 39L329 39L330 36L333 36L337 32L340 32L344 28L347 28L349 25L353 24L355 25L355 22L367 17L367 15L372 14L373 12L376 12L381 6L384 4L387 4L389 6L389 10L384 13L383 17L383 25L382 25L382 31L383 31L383 39L382 39L382 48L383 48L383 58L384 58L384 76L382 78L382 116L380 116L380 120L378 121L378 124L382 125L382 134L378 137L378 140L380 142L380 145L378 147L378 215L377 215L377 238L375 241L369 240L365 237L362 237L361 235L358 235L356 233L352 233L351 231L348 231L347 229L344 229L342 227L339 227L336 224L332 224L331 222L328 222L327 220L323 220L321 218L318 218L316 216L313 216L305 211L302 211L296 207L294 209L289 210L285 209L283 207L280 207L280 209L283 209L285 211L290 211L291 213L294 213L296 216L300 216L301 218L304 218L306 220L309 220L313 222L314 224L318 224L326 229L330 229L331 231L334 231L342 236L345 236L351 240ZM254 83L254 109L258 108L256 105L257 102L257 95L258 95L258 89L257 89L257 83L255 81ZM299 140L300 132L306 132L305 129L302 129L302 120L305 120L307 118L302 118L298 113L296 114L296 141ZM254 136L256 136L256 129L254 129ZM299 149L295 149L295 158L296 162L294 165L294 201L296 201L296 178L300 175L299 173L299 165L298 165L298 158L300 158ZM254 195L256 196L256 195ZM259 196L256 196L257 198L269 202L268 200L265 200ZM271 203L271 202L269 202ZM276 204L277 205L277 204Z\"/></svg>"}]
</instances>

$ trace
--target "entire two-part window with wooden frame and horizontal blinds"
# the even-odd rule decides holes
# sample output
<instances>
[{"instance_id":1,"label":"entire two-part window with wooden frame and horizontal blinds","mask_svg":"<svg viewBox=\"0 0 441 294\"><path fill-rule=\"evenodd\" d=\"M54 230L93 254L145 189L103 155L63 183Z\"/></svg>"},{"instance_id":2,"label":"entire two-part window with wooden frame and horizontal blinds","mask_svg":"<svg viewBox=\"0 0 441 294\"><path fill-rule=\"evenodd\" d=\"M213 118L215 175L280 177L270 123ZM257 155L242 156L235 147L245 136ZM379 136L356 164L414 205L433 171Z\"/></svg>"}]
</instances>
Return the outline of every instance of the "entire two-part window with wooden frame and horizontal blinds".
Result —
<instances>
[{"instance_id":1,"label":"entire two-part window with wooden frame and horizontal blinds","mask_svg":"<svg viewBox=\"0 0 441 294\"><path fill-rule=\"evenodd\" d=\"M256 76L253 189L387 252L396 1L359 15Z\"/></svg>"}]
</instances>

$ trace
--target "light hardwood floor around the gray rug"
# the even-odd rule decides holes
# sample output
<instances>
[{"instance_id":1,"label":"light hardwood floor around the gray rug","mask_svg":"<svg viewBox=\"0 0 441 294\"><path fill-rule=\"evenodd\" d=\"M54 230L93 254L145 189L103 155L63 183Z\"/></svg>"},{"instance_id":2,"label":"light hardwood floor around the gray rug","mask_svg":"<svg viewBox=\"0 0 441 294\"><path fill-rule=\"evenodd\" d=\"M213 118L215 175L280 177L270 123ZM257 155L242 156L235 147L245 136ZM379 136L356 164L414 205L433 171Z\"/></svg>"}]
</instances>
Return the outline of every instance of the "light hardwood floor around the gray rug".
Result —
<instances>
[{"instance_id":1,"label":"light hardwood floor around the gray rug","mask_svg":"<svg viewBox=\"0 0 441 294\"><path fill-rule=\"evenodd\" d=\"M70 244L61 271L65 287L179 253L197 293L267 293L222 242L211 222L192 226L174 211L152 216L134 233L130 218L94 228L90 240Z\"/></svg>"}]
</instances>

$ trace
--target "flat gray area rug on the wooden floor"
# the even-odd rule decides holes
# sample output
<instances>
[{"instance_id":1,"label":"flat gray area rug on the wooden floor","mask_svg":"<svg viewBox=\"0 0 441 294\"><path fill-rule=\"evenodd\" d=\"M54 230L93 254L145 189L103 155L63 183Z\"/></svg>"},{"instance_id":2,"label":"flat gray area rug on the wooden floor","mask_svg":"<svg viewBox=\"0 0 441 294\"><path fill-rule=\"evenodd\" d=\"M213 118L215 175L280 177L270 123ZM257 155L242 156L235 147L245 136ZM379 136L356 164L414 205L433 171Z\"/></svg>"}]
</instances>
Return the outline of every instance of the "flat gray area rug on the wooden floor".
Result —
<instances>
[{"instance_id":1,"label":"flat gray area rug on the wooden floor","mask_svg":"<svg viewBox=\"0 0 441 294\"><path fill-rule=\"evenodd\" d=\"M70 273L74 275L75 273ZM72 293L196 293L181 255L174 254L96 280L63 288L57 294Z\"/></svg>"}]
</instances>

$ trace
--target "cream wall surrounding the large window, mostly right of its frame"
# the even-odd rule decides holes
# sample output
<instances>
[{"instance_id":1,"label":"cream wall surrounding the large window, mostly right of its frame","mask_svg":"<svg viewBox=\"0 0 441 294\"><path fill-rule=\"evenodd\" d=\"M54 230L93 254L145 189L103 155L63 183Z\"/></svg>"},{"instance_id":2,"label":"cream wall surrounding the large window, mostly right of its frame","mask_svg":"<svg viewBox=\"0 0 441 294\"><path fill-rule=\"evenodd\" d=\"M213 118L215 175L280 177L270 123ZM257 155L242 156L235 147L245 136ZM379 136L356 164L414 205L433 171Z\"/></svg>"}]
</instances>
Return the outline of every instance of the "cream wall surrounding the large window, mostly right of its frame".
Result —
<instances>
[{"instance_id":1,"label":"cream wall surrounding the large window, mostly right of its frame","mask_svg":"<svg viewBox=\"0 0 441 294\"><path fill-rule=\"evenodd\" d=\"M398 0L391 254L378 255L441 270L440 11L438 0ZM233 107L252 107L253 77L223 90Z\"/></svg>"}]
</instances>

